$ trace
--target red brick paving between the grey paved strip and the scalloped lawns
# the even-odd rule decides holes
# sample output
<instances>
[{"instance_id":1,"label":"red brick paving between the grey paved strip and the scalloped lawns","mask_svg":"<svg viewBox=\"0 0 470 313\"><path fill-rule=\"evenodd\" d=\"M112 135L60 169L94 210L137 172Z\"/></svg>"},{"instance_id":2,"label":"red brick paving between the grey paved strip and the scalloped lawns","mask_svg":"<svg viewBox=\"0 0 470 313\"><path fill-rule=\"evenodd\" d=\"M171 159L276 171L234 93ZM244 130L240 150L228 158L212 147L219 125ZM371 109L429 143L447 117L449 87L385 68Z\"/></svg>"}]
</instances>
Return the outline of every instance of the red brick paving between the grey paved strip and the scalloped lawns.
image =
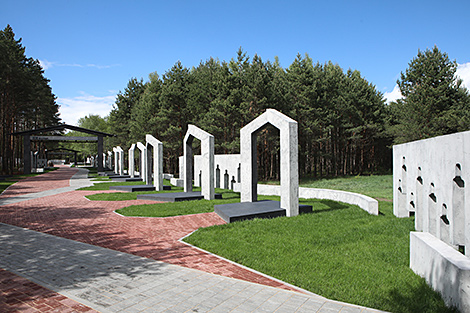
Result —
<instances>
[{"instance_id":1,"label":"red brick paving between the grey paved strip and the scalloped lawns","mask_svg":"<svg viewBox=\"0 0 470 313\"><path fill-rule=\"evenodd\" d=\"M25 190L38 192L66 187L76 171L60 168L28 178L13 185L0 198ZM216 213L166 218L123 217L114 211L132 204L155 202L89 201L84 197L101 192L72 191L0 206L0 222L213 274L293 289L178 241L200 227L223 224Z\"/></svg>"}]
</instances>

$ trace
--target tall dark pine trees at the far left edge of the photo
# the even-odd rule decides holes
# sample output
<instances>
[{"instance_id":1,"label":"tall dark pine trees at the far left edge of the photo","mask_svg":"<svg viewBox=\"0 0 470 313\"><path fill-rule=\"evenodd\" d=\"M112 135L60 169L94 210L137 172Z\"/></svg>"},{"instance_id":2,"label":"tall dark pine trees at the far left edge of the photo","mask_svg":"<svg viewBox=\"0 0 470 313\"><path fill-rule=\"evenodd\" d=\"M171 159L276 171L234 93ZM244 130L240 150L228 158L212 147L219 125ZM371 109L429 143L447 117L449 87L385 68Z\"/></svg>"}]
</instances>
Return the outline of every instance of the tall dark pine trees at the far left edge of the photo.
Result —
<instances>
[{"instance_id":1,"label":"tall dark pine trees at the far left edge of the photo","mask_svg":"<svg viewBox=\"0 0 470 313\"><path fill-rule=\"evenodd\" d=\"M0 30L1 172L22 166L22 137L12 133L59 123L55 99L39 61L26 56L10 25Z\"/></svg>"}]
</instances>

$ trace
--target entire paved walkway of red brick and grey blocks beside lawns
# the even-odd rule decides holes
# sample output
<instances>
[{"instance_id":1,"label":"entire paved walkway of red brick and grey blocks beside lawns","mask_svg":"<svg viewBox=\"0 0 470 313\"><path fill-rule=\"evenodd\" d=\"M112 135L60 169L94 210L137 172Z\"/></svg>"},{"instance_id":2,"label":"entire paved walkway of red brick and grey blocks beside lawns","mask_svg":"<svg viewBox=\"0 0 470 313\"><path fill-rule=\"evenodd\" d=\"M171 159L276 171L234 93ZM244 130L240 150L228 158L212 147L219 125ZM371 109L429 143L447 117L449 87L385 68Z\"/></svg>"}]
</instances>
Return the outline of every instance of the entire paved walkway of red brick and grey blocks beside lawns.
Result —
<instances>
[{"instance_id":1,"label":"entire paved walkway of red brick and grey blocks beside lawns","mask_svg":"<svg viewBox=\"0 0 470 313\"><path fill-rule=\"evenodd\" d=\"M0 251L7 251L0 268L67 296L62 302L73 299L101 312L374 311L327 300L178 241L199 227L224 223L215 213L115 214L153 202L89 201L84 196L95 192L71 191L91 184L83 174L60 168L18 182L0 196ZM8 272L0 278L3 273ZM2 291L5 286L0 283ZM67 310L90 310L78 305Z\"/></svg>"}]
</instances>

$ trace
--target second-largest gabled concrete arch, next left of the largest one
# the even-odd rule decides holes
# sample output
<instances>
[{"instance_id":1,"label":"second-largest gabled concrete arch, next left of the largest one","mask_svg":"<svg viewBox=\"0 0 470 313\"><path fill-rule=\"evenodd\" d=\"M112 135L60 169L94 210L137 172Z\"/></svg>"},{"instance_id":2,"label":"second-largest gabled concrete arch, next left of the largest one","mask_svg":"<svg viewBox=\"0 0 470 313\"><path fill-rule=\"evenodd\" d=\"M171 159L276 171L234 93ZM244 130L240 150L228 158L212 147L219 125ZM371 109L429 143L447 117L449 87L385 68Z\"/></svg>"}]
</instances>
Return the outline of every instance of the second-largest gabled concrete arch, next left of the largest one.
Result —
<instances>
[{"instance_id":1,"label":"second-largest gabled concrete arch, next left of the largest one","mask_svg":"<svg viewBox=\"0 0 470 313\"><path fill-rule=\"evenodd\" d=\"M201 141L202 180L201 194L206 200L213 200L214 193L214 136L197 126L188 125L183 141L184 160L184 191L193 190L193 148L194 138Z\"/></svg>"}]
</instances>

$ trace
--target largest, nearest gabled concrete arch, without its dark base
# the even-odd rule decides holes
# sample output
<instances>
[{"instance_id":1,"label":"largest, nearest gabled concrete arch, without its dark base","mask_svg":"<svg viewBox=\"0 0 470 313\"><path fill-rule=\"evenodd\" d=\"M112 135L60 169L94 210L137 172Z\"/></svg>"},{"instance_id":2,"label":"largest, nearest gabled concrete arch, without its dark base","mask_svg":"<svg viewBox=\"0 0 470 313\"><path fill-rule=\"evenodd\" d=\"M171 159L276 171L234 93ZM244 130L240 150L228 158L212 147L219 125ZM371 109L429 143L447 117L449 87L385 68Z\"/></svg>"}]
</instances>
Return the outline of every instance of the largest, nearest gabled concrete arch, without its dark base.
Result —
<instances>
[{"instance_id":1,"label":"largest, nearest gabled concrete arch, without its dark base","mask_svg":"<svg viewBox=\"0 0 470 313\"><path fill-rule=\"evenodd\" d=\"M274 109L267 109L240 130L241 202L257 201L256 137L268 124L280 131L281 208L287 216L296 216L299 214L298 126L296 121Z\"/></svg>"}]
</instances>

